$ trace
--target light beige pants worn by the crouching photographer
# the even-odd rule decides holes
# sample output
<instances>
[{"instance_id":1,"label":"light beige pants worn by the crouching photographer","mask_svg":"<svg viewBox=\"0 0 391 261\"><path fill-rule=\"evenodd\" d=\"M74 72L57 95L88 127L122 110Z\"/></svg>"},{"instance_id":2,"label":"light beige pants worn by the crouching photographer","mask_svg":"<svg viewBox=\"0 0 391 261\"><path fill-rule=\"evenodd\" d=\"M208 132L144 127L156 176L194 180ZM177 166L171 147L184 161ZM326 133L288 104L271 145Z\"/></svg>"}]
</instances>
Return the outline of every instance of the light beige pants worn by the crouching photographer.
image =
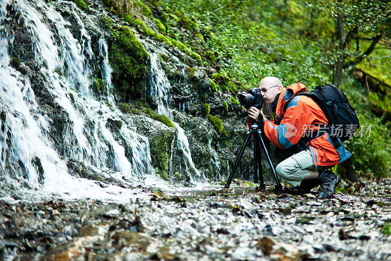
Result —
<instances>
[{"instance_id":1,"label":"light beige pants worn by the crouching photographer","mask_svg":"<svg viewBox=\"0 0 391 261\"><path fill-rule=\"evenodd\" d=\"M309 150L299 153L289 153L287 150L279 149L273 143L270 143L270 159L276 169L277 175L286 181L290 186L296 187L309 174L310 170L325 170L333 166L316 166L312 161L312 154ZM270 169L266 156L261 150L262 164Z\"/></svg>"}]
</instances>

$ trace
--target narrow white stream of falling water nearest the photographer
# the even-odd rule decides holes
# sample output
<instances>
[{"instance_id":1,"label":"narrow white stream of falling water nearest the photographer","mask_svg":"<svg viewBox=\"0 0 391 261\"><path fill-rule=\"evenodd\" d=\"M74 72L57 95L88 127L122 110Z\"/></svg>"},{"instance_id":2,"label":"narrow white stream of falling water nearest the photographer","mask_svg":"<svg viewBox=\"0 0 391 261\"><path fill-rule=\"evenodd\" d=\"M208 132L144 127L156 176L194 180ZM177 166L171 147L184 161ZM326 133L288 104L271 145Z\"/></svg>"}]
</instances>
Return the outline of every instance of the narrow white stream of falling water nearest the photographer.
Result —
<instances>
[{"instance_id":1,"label":"narrow white stream of falling water nearest the photographer","mask_svg":"<svg viewBox=\"0 0 391 261\"><path fill-rule=\"evenodd\" d=\"M151 59L151 95L157 100L157 111L172 120L177 130L177 149L183 151L183 159L185 161L186 172L192 173L192 181L200 181L203 178L195 167L192 153L190 151L189 141L185 135L183 128L179 126L173 119L173 109L171 107L171 85L164 71L159 68L159 57L156 52L150 52Z\"/></svg>"}]
</instances>

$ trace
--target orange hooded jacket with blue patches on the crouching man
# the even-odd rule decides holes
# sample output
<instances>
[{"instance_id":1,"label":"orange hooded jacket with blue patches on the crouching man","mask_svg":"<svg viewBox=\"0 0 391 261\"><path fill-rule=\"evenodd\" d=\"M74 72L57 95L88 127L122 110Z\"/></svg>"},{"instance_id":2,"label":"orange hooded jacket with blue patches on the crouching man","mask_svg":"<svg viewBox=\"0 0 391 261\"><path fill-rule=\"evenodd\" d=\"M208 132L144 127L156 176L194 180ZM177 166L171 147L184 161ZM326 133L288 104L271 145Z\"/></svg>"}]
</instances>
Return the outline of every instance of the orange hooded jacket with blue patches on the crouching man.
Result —
<instances>
[{"instance_id":1,"label":"orange hooded jacket with blue patches on the crouching man","mask_svg":"<svg viewBox=\"0 0 391 261\"><path fill-rule=\"evenodd\" d=\"M328 123L318 104L307 96L295 96L299 92L306 92L302 83L283 88L277 102L274 121L263 121L265 136L281 149L297 144L308 131L317 131L318 127L311 124ZM351 156L343 145L336 149L328 133L313 139L308 148L315 166L340 164Z\"/></svg>"}]
</instances>

